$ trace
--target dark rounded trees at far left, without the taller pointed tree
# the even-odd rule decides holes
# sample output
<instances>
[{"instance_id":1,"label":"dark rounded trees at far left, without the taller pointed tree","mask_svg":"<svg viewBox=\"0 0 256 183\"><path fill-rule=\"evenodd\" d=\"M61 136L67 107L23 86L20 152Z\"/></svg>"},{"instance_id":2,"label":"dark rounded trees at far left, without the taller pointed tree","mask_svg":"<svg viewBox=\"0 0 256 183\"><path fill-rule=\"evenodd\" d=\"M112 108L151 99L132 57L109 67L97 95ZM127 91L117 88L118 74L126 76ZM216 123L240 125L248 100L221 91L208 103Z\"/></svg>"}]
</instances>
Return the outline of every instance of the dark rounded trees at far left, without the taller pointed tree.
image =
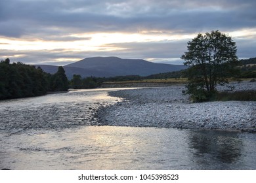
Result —
<instances>
[{"instance_id":1,"label":"dark rounded trees at far left, without the taller pointed tree","mask_svg":"<svg viewBox=\"0 0 256 183\"><path fill-rule=\"evenodd\" d=\"M48 89L47 75L24 63L0 62L0 99L44 95Z\"/></svg>"}]
</instances>

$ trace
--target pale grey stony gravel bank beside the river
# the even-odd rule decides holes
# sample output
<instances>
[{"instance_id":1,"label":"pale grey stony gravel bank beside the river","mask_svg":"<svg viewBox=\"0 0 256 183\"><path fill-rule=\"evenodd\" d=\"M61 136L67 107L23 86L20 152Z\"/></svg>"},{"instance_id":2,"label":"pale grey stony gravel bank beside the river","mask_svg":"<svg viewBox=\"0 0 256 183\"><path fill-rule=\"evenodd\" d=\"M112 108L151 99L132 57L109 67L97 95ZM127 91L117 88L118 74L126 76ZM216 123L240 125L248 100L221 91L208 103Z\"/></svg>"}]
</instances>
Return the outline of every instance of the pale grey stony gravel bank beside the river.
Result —
<instances>
[{"instance_id":1,"label":"pale grey stony gravel bank beside the river","mask_svg":"<svg viewBox=\"0 0 256 183\"><path fill-rule=\"evenodd\" d=\"M235 90L256 90L255 82L233 83ZM256 132L256 102L190 103L184 86L119 90L109 95L124 100L100 108L98 125L227 129ZM230 90L219 87L219 90Z\"/></svg>"}]
</instances>

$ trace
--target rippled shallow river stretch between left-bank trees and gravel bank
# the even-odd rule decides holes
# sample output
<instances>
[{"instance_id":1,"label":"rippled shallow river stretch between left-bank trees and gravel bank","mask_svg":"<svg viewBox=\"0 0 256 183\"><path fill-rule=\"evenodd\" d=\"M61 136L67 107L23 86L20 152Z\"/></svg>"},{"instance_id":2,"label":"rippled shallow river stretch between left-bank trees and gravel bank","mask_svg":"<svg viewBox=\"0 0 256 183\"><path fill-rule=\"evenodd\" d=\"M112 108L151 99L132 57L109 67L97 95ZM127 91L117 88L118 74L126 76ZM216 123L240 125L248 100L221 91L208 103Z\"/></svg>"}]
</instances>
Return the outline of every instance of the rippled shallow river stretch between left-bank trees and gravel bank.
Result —
<instances>
[{"instance_id":1,"label":"rippled shallow river stretch between left-bank trees and gravel bank","mask_svg":"<svg viewBox=\"0 0 256 183\"><path fill-rule=\"evenodd\" d=\"M116 90L116 89L113 89ZM73 90L0 102L0 130L63 129L95 124L96 109L115 103L107 89Z\"/></svg>"}]
</instances>

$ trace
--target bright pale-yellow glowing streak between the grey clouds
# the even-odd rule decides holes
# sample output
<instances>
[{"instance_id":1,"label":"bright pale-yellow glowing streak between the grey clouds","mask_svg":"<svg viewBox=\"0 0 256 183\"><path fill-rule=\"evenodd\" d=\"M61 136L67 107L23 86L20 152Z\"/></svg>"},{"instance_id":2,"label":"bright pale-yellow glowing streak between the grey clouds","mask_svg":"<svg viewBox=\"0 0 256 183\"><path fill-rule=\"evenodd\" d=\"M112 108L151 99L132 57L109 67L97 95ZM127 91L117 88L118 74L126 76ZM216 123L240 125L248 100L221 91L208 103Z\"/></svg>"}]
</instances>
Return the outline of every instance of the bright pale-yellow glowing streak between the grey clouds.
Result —
<instances>
[{"instance_id":1,"label":"bright pale-yellow glowing streak between the grey clouds","mask_svg":"<svg viewBox=\"0 0 256 183\"><path fill-rule=\"evenodd\" d=\"M123 50L123 48L113 48L104 46L112 43L123 42L159 42L171 41L192 38L194 35L171 35L167 33L87 33L87 34L74 34L72 37L86 38L91 37L89 40L84 41L25 41L26 39L6 39L0 38L2 44L0 49L6 50L54 50L54 49L67 49L67 50L87 50L104 51Z\"/></svg>"}]
</instances>

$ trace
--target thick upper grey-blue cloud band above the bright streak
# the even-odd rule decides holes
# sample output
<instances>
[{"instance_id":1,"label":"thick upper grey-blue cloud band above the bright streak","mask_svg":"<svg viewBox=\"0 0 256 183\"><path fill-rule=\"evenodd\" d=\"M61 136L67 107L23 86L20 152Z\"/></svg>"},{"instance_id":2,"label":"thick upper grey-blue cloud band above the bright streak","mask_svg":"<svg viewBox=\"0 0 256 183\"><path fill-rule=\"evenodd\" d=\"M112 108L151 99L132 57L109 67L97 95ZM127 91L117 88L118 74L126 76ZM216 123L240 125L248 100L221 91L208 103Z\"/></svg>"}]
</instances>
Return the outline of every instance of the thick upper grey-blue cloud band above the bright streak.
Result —
<instances>
[{"instance_id":1,"label":"thick upper grey-blue cloud band above the bright streak","mask_svg":"<svg viewBox=\"0 0 256 183\"><path fill-rule=\"evenodd\" d=\"M1 35L255 27L255 1L1 1ZM37 29L35 29L37 27Z\"/></svg>"}]
</instances>

